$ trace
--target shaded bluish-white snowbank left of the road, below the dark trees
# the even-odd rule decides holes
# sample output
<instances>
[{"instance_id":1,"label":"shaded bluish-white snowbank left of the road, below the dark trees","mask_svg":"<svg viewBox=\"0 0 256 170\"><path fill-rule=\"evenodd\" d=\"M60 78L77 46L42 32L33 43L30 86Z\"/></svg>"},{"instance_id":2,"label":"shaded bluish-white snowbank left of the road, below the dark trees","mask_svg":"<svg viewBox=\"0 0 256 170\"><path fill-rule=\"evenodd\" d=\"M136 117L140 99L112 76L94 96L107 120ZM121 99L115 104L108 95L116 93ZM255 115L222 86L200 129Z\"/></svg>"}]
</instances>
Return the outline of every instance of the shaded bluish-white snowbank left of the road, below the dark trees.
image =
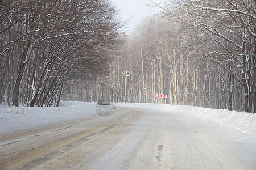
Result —
<instances>
[{"instance_id":1,"label":"shaded bluish-white snowbank left of the road, below the dark trees","mask_svg":"<svg viewBox=\"0 0 256 170\"><path fill-rule=\"evenodd\" d=\"M60 107L43 108L0 105L0 134L96 116L95 105L75 101L61 101Z\"/></svg>"}]
</instances>

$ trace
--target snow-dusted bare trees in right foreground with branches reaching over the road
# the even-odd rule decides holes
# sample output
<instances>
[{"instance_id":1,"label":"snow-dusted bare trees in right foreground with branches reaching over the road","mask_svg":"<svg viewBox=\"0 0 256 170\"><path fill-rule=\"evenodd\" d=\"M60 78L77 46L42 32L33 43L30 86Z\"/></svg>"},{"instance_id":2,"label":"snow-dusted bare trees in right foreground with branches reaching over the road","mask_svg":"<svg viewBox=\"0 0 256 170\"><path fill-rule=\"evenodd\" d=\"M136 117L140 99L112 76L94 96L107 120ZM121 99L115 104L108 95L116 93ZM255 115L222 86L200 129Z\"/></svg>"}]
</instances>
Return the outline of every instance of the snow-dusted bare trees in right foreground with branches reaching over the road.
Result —
<instances>
[{"instance_id":1,"label":"snow-dusted bare trees in right foreground with branches reaching over the road","mask_svg":"<svg viewBox=\"0 0 256 170\"><path fill-rule=\"evenodd\" d=\"M191 37L203 40L207 50L201 46L193 48L228 71L231 84L236 79L243 85L245 111L254 112L255 1L170 1L158 7L162 8L164 16L200 31L199 35ZM237 65L242 65L241 76L235 73ZM229 88L233 93L232 86Z\"/></svg>"}]
</instances>

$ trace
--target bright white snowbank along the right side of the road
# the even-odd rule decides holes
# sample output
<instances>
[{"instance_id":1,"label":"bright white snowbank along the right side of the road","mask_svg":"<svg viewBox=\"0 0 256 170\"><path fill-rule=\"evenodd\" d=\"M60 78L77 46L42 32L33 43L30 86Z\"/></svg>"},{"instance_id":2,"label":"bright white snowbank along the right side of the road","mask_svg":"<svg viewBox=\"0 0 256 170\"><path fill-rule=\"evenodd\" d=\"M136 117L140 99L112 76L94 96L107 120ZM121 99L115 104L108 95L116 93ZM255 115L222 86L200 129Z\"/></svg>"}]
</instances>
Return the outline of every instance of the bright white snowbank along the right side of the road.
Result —
<instances>
[{"instance_id":1,"label":"bright white snowbank along the right side of the road","mask_svg":"<svg viewBox=\"0 0 256 170\"><path fill-rule=\"evenodd\" d=\"M170 113L188 114L189 116L206 118L256 137L256 114L223 109L193 107L188 105L146 103L117 103L115 105L119 107L162 109L164 111L170 111Z\"/></svg>"}]
</instances>

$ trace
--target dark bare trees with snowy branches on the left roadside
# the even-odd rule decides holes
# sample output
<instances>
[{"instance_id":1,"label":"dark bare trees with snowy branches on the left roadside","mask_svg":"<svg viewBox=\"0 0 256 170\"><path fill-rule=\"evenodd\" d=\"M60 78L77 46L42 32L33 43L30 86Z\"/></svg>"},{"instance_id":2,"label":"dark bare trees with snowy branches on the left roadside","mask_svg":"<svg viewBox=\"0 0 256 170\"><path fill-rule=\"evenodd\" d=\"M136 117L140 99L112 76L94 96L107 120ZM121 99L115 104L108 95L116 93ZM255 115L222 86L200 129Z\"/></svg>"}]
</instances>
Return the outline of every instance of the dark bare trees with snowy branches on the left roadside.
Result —
<instances>
[{"instance_id":1,"label":"dark bare trees with snowy branches on the left roadside","mask_svg":"<svg viewBox=\"0 0 256 170\"><path fill-rule=\"evenodd\" d=\"M0 1L0 103L59 105L73 82L108 73L120 27L109 0Z\"/></svg>"}]
</instances>

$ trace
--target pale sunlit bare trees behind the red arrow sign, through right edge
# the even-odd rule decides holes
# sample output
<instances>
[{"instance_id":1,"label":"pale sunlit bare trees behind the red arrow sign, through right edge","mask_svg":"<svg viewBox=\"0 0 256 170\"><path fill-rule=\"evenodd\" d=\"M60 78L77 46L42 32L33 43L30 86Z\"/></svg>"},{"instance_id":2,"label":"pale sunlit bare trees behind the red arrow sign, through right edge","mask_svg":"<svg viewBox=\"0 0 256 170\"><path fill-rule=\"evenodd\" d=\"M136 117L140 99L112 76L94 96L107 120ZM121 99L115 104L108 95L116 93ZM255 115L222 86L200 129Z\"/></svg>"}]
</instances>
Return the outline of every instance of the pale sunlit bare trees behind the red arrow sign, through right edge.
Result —
<instances>
[{"instance_id":1,"label":"pale sunlit bare trees behind the red arrow sign, through right edge","mask_svg":"<svg viewBox=\"0 0 256 170\"><path fill-rule=\"evenodd\" d=\"M254 113L255 1L167 1L151 7L159 14L127 37L113 71L88 83L84 100L104 96ZM131 72L126 89L125 70Z\"/></svg>"}]
</instances>

